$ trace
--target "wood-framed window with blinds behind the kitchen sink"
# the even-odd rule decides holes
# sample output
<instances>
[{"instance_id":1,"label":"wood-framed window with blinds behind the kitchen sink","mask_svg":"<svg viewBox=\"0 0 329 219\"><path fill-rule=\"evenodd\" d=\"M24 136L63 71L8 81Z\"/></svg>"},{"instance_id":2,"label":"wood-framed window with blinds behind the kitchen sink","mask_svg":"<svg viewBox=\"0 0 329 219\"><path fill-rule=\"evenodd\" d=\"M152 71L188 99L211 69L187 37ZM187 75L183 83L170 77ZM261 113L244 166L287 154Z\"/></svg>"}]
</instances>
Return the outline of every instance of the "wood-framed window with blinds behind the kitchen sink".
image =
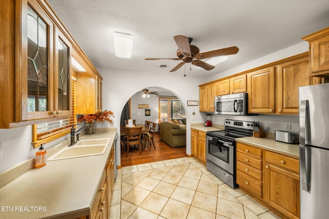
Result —
<instances>
[{"instance_id":1,"label":"wood-framed window with blinds behind the kitchen sink","mask_svg":"<svg viewBox=\"0 0 329 219\"><path fill-rule=\"evenodd\" d=\"M72 113L69 118L65 120L58 120L46 123L39 123L32 125L32 145L34 148L39 147L41 144L51 142L61 136L70 132L72 125L76 124L75 114L75 87L76 79L72 77ZM32 102L31 102L32 103Z\"/></svg>"}]
</instances>

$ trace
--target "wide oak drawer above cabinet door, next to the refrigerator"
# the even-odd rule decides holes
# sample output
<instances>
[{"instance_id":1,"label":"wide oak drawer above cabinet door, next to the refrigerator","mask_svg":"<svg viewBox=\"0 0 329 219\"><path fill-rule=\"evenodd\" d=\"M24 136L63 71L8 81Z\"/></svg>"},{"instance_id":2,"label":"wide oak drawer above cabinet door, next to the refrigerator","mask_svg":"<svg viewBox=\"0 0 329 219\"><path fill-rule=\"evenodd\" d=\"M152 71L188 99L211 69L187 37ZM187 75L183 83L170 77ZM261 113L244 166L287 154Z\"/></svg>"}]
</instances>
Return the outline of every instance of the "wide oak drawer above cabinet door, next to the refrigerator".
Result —
<instances>
[{"instance_id":1,"label":"wide oak drawer above cabinet door, next to the refrigerator","mask_svg":"<svg viewBox=\"0 0 329 219\"><path fill-rule=\"evenodd\" d=\"M299 173L299 160L296 158L266 151L265 161Z\"/></svg>"}]
</instances>

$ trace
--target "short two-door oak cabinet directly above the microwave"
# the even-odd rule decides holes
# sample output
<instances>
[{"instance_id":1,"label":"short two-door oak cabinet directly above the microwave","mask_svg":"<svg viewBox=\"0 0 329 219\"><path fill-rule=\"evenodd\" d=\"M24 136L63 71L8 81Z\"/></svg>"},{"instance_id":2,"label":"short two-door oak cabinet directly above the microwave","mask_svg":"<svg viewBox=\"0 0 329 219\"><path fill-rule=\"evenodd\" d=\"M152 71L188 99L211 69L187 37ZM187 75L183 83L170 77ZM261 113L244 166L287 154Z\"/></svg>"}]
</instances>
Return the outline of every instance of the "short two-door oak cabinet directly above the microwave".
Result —
<instances>
[{"instance_id":1,"label":"short two-door oak cabinet directly above the microwave","mask_svg":"<svg viewBox=\"0 0 329 219\"><path fill-rule=\"evenodd\" d=\"M246 78L246 74L242 74L217 82L217 95L247 92Z\"/></svg>"}]
</instances>

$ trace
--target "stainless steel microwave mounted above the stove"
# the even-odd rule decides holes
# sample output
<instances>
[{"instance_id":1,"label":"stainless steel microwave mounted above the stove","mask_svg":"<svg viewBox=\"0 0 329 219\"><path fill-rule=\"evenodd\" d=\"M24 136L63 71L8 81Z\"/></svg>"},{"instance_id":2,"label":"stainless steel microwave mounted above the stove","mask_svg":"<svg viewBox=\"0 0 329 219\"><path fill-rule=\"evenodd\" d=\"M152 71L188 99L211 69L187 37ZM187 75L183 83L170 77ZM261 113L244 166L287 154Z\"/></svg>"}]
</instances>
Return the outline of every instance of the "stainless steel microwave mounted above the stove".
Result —
<instances>
[{"instance_id":1,"label":"stainless steel microwave mounted above the stove","mask_svg":"<svg viewBox=\"0 0 329 219\"><path fill-rule=\"evenodd\" d=\"M247 115L248 93L235 93L215 97L215 114Z\"/></svg>"}]
</instances>

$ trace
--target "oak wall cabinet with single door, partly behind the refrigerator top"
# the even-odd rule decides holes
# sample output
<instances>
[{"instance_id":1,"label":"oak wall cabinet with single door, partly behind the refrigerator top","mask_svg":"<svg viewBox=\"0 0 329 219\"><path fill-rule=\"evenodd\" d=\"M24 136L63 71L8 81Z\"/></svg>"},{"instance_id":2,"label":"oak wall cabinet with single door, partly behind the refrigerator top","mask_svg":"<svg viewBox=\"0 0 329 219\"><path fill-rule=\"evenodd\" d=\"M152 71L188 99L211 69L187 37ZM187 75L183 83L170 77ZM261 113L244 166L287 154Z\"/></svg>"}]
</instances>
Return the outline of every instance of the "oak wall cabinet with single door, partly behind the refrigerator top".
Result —
<instances>
[{"instance_id":1,"label":"oak wall cabinet with single door, partly behind the refrigerator top","mask_svg":"<svg viewBox=\"0 0 329 219\"><path fill-rule=\"evenodd\" d=\"M280 114L298 114L298 87L319 84L319 78L310 76L308 55L278 65L277 105Z\"/></svg>"}]
</instances>

